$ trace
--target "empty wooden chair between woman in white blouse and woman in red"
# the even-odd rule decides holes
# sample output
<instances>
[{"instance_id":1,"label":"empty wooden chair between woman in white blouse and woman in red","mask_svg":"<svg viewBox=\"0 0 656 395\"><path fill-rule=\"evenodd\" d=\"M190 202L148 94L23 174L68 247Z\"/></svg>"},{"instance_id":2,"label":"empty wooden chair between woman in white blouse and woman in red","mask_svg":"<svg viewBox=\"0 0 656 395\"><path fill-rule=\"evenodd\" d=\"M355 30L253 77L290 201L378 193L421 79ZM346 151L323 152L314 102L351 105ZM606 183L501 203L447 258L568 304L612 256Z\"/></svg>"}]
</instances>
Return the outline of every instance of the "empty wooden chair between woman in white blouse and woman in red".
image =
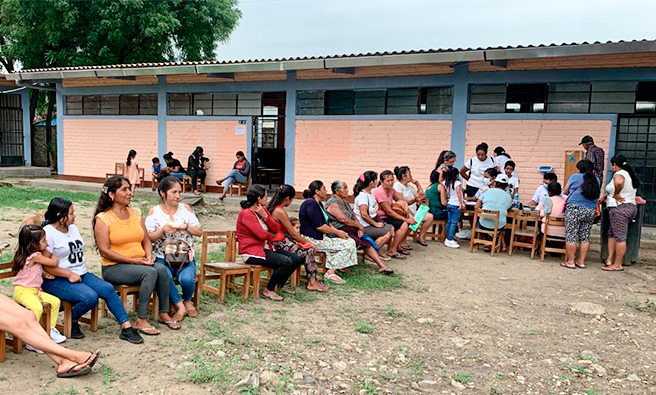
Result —
<instances>
[{"instance_id":1,"label":"empty wooden chair between woman in white blouse and woman in red","mask_svg":"<svg viewBox=\"0 0 656 395\"><path fill-rule=\"evenodd\" d=\"M208 262L207 253L210 243L225 243L224 262ZM228 288L240 288L244 300L248 299L251 283L251 272L254 265L235 262L237 258L237 240L235 231L203 232L203 244L200 259L200 290L209 291L219 297L219 302L225 300ZM233 281L236 277L244 277L242 284ZM207 284L208 280L219 280L219 287Z\"/></svg>"}]
</instances>

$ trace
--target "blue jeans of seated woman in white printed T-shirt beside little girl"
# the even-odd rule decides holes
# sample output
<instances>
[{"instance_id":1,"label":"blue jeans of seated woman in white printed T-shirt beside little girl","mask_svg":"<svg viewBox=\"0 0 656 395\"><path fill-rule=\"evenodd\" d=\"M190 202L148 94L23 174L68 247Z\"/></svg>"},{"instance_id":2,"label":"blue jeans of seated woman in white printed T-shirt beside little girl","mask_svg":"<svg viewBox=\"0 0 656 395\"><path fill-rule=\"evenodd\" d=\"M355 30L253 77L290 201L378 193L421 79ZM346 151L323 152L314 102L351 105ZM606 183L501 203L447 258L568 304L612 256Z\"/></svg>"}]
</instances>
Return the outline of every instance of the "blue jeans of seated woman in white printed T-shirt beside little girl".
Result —
<instances>
[{"instance_id":1,"label":"blue jeans of seated woman in white printed T-shirt beside little girl","mask_svg":"<svg viewBox=\"0 0 656 395\"><path fill-rule=\"evenodd\" d=\"M43 290L47 293L65 300L74 305L73 321L78 321L87 311L93 309L101 298L107 303L119 325L128 321L121 298L116 294L114 286L93 273L87 273L79 283L72 283L64 277L55 277L54 280L43 280Z\"/></svg>"}]
</instances>

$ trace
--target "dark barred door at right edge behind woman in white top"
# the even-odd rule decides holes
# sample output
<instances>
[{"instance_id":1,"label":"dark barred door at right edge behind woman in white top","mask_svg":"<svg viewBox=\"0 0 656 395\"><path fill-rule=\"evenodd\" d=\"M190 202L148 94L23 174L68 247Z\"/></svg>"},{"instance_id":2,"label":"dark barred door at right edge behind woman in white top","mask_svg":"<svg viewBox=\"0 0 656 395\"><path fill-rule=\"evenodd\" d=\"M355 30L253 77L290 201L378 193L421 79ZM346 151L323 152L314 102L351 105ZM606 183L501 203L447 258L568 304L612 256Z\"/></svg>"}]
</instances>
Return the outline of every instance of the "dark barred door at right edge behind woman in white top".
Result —
<instances>
[{"instance_id":1,"label":"dark barred door at right edge behind woman in white top","mask_svg":"<svg viewBox=\"0 0 656 395\"><path fill-rule=\"evenodd\" d=\"M656 226L656 117L620 116L615 153L624 155L640 178L645 225Z\"/></svg>"}]
</instances>

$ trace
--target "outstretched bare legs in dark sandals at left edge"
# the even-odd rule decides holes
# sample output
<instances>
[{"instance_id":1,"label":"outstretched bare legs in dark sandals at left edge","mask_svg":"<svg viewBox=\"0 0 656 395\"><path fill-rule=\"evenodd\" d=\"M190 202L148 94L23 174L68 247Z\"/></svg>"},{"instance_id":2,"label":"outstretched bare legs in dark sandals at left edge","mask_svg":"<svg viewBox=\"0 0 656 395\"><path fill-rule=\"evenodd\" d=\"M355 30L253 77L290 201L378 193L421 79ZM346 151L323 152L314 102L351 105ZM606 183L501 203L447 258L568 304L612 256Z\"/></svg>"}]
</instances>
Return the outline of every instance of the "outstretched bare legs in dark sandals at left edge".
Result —
<instances>
[{"instance_id":1,"label":"outstretched bare legs in dark sandals at left edge","mask_svg":"<svg viewBox=\"0 0 656 395\"><path fill-rule=\"evenodd\" d=\"M43 350L48 358L57 364L59 378L89 374L100 356L98 350L88 353L69 350L56 344L39 325L31 311L2 294L0 294L0 331L9 332L25 343Z\"/></svg>"}]
</instances>

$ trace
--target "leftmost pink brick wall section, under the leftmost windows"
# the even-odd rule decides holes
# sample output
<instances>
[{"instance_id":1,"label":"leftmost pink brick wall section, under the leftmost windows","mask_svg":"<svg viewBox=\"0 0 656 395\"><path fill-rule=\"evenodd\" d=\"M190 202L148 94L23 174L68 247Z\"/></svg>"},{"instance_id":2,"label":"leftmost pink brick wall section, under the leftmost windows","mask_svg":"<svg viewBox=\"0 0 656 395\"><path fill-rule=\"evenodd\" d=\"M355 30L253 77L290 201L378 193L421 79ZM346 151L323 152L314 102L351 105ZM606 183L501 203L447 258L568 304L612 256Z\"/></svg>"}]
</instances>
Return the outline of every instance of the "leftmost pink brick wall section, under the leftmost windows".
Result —
<instances>
[{"instance_id":1,"label":"leftmost pink brick wall section, under the leftmost windows","mask_svg":"<svg viewBox=\"0 0 656 395\"><path fill-rule=\"evenodd\" d=\"M114 172L114 163L125 162L131 149L147 169L157 156L156 120L69 118L63 133L65 175L104 178Z\"/></svg>"}]
</instances>

